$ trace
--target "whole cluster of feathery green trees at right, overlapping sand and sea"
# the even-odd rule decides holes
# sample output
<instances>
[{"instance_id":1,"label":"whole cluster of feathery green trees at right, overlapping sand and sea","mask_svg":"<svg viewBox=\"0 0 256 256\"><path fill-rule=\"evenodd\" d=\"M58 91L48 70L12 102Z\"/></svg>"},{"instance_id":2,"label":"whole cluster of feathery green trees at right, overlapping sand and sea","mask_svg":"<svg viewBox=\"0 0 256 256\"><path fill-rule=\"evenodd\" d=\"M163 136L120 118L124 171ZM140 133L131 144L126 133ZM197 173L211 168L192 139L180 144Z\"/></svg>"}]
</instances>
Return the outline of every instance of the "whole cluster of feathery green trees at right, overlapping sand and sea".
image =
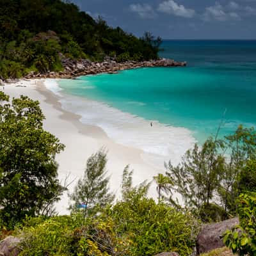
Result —
<instances>
[{"instance_id":1,"label":"whole cluster of feathery green trees at right, overlapping sand and sea","mask_svg":"<svg viewBox=\"0 0 256 256\"><path fill-rule=\"evenodd\" d=\"M224 140L209 138L202 147L188 150L182 163L166 164L172 191L182 195L186 207L202 221L235 216L241 193L255 191L256 133L239 126ZM170 196L169 201L179 206ZM221 204L220 204L221 202Z\"/></svg>"}]
</instances>

